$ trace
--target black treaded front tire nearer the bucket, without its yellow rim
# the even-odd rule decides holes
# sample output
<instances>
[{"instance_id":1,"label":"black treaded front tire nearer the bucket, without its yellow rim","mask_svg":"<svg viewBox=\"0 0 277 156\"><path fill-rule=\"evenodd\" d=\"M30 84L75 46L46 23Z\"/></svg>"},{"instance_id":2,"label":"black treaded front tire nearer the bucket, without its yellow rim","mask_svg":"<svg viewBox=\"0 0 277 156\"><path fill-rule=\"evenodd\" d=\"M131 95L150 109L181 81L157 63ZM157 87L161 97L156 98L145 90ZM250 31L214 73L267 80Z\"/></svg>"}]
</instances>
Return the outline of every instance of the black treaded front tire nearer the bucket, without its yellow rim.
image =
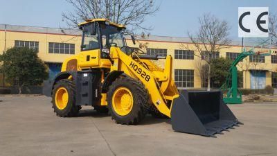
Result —
<instances>
[{"instance_id":1,"label":"black treaded front tire nearer the bucket, without its yellow rim","mask_svg":"<svg viewBox=\"0 0 277 156\"><path fill-rule=\"evenodd\" d=\"M118 87L126 87L132 93L134 98L133 107L131 112L125 116L120 116L116 113L112 106L112 96ZM135 96L134 96L135 95ZM134 80L129 77L122 77L116 79L114 83L109 87L107 92L107 102L109 108L109 114L111 119L114 119L116 123L134 125L141 122L147 110L145 110L145 105L148 105L148 91L145 89L144 85L138 80Z\"/></svg>"}]
</instances>

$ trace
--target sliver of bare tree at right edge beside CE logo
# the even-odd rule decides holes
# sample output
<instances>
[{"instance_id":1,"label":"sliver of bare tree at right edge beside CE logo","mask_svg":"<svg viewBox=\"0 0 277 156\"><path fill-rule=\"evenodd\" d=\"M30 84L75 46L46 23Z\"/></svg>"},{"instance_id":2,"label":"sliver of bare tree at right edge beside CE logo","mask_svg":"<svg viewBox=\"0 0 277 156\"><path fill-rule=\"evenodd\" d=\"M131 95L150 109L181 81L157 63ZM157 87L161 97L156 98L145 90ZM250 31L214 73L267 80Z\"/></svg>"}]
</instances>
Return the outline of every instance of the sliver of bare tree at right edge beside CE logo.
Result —
<instances>
[{"instance_id":1,"label":"sliver of bare tree at right edge beside CE logo","mask_svg":"<svg viewBox=\"0 0 277 156\"><path fill-rule=\"evenodd\" d=\"M269 37L271 44L277 46L277 15L269 15Z\"/></svg>"}]
</instances>

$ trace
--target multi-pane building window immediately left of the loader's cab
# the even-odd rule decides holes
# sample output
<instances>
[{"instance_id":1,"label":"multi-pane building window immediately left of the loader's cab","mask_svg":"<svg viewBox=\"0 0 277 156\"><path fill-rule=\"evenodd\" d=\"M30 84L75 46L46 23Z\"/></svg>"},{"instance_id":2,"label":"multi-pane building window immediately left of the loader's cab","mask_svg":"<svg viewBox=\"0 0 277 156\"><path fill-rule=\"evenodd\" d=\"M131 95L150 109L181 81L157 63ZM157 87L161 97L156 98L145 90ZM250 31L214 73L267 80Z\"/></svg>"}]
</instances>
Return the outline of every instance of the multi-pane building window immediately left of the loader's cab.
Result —
<instances>
[{"instance_id":1,"label":"multi-pane building window immediately left of the loader's cab","mask_svg":"<svg viewBox=\"0 0 277 156\"><path fill-rule=\"evenodd\" d=\"M49 53L75 54L75 44L49 43Z\"/></svg>"}]
</instances>

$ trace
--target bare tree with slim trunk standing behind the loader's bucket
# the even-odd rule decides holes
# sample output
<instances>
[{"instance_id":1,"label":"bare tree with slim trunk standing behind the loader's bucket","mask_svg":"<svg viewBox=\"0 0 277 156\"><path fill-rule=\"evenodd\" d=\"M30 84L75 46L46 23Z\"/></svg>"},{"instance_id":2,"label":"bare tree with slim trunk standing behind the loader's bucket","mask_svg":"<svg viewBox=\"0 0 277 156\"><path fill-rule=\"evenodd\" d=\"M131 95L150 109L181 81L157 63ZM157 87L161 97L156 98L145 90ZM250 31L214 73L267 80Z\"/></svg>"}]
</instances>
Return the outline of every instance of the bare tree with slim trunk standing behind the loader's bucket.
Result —
<instances>
[{"instance_id":1,"label":"bare tree with slim trunk standing behind the loader's bucket","mask_svg":"<svg viewBox=\"0 0 277 156\"><path fill-rule=\"evenodd\" d=\"M217 51L228 48L231 40L229 39L230 27L224 20L217 19L214 15L205 14L199 17L199 30L193 35L188 33L188 37L193 43L193 49L189 45L183 44L188 50L198 51L194 55L202 58L208 64L208 88L211 85L211 60Z\"/></svg>"}]
</instances>

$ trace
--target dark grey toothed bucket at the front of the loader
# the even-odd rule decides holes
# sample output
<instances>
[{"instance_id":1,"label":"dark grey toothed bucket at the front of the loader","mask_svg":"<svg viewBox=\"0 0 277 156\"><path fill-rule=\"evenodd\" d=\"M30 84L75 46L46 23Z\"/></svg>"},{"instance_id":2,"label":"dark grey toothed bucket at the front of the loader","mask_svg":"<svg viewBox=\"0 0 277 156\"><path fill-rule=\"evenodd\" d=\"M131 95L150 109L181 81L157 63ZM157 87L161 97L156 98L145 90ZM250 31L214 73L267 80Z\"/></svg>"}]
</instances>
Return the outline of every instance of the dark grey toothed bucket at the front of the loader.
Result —
<instances>
[{"instance_id":1,"label":"dark grey toothed bucket at the front of the loader","mask_svg":"<svg viewBox=\"0 0 277 156\"><path fill-rule=\"evenodd\" d=\"M172 129L195 135L215 137L240 122L222 100L222 92L182 90L171 110Z\"/></svg>"}]
</instances>

